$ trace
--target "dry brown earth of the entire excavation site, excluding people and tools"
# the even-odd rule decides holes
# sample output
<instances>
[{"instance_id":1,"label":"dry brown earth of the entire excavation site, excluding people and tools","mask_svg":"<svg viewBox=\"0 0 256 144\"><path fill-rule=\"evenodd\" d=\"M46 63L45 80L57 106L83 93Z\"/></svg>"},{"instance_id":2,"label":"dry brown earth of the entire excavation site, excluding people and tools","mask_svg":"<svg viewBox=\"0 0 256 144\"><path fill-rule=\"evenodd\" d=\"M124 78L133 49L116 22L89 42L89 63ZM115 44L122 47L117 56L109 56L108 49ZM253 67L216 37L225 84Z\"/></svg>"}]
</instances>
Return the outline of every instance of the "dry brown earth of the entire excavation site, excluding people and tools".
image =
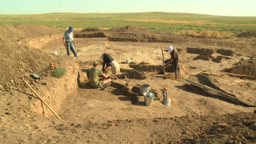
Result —
<instances>
[{"instance_id":1,"label":"dry brown earth of the entire excavation site, excluding people and tools","mask_svg":"<svg viewBox=\"0 0 256 144\"><path fill-rule=\"evenodd\" d=\"M208 94L192 79L256 105L256 44L232 39L196 39L128 26L75 31L78 58L66 56L62 31L44 26L0 27L0 143L255 143L255 107ZM245 33L243 33L245 35ZM161 46L180 55L180 77L158 75ZM54 54L57 52L58 54ZM87 85L86 72L100 54L110 54L129 77L106 90ZM165 53L165 59L170 55ZM134 65L122 64L131 60ZM56 78L51 62L66 68ZM148 65L139 65L142 62ZM61 117L39 100L26 82ZM140 84L160 100L147 106ZM171 106L161 103L168 88Z\"/></svg>"}]
</instances>

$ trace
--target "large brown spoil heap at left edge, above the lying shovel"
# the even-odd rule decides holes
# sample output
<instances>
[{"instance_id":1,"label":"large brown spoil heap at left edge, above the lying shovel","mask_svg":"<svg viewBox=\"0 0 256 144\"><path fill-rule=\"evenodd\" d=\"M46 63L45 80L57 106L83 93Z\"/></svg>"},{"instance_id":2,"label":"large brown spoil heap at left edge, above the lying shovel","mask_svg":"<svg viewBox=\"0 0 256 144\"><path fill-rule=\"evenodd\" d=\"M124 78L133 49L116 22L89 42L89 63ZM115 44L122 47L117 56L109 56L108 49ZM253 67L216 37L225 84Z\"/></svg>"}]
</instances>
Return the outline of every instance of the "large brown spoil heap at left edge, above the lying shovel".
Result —
<instances>
[{"instance_id":1,"label":"large brown spoil heap at left edge, above the lying shovel","mask_svg":"<svg viewBox=\"0 0 256 144\"><path fill-rule=\"evenodd\" d=\"M6 90L9 87L22 87L21 76L29 76L32 72L40 72L57 62L57 57L52 57L42 50L32 50L28 46L20 46L18 41L35 38L43 35L58 34L59 31L45 26L32 24L1 24L0 31L0 85ZM44 73L46 75L47 72Z\"/></svg>"}]
</instances>

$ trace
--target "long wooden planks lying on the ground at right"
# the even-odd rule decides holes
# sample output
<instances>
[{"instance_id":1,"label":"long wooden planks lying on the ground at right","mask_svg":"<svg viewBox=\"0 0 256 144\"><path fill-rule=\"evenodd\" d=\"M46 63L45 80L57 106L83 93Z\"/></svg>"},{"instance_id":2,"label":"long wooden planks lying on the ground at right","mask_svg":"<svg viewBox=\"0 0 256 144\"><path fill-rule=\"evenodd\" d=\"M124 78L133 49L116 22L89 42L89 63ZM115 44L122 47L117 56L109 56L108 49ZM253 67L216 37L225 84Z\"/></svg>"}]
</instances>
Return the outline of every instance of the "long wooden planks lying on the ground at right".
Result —
<instances>
[{"instance_id":1,"label":"long wooden planks lying on the ground at right","mask_svg":"<svg viewBox=\"0 0 256 144\"><path fill-rule=\"evenodd\" d=\"M222 92L220 90L216 90L216 89L214 89L212 87L207 87L207 86L205 86L203 84L196 83L196 82L192 81L191 79L186 79L186 81L189 82L189 83L194 84L197 87L201 87L204 91L206 91L209 94L218 95L218 96L221 96L223 98L228 98L228 99L230 99L230 100L232 100L234 102L243 103L243 104L248 105L248 106L254 106L254 107L256 106L256 105L251 104L250 102L244 101L243 99L233 97L230 94L225 94L224 92Z\"/></svg>"}]
</instances>

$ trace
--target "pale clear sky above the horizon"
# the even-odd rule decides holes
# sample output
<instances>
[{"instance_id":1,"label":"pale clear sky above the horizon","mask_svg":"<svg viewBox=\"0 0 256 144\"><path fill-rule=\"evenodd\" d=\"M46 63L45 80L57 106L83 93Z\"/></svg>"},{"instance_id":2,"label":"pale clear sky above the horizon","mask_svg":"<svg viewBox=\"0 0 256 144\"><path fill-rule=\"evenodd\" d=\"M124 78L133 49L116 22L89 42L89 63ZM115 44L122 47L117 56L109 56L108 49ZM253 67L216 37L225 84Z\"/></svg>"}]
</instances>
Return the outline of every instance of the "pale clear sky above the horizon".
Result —
<instances>
[{"instance_id":1,"label":"pale clear sky above the horizon","mask_svg":"<svg viewBox=\"0 0 256 144\"><path fill-rule=\"evenodd\" d=\"M256 0L0 0L0 14L200 13L254 16Z\"/></svg>"}]
</instances>

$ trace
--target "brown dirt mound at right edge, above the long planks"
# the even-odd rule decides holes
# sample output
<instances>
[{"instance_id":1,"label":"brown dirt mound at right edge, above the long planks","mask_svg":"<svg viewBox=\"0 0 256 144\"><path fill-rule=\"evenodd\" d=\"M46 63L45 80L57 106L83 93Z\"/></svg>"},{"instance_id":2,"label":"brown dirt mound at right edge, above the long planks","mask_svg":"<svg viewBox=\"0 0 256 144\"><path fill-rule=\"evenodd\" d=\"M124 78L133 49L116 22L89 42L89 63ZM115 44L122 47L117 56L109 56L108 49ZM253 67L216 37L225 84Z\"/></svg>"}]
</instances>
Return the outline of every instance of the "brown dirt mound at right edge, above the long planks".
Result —
<instances>
[{"instance_id":1,"label":"brown dirt mound at right edge, above the long planks","mask_svg":"<svg viewBox=\"0 0 256 144\"><path fill-rule=\"evenodd\" d=\"M224 69L224 72L231 72L239 75L256 76L256 61L255 57L250 60L241 59L232 68Z\"/></svg>"}]
</instances>

